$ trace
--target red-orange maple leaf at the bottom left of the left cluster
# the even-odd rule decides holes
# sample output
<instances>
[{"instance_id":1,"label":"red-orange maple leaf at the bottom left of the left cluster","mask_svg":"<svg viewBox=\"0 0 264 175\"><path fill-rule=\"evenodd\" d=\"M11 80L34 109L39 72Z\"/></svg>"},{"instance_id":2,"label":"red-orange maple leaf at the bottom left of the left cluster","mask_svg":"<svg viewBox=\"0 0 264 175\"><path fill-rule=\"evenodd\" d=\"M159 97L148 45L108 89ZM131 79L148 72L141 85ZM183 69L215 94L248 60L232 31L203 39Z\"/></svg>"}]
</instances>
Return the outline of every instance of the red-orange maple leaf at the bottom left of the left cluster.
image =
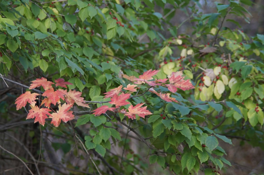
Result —
<instances>
[{"instance_id":1,"label":"red-orange maple leaf at the bottom left of the left cluster","mask_svg":"<svg viewBox=\"0 0 264 175\"><path fill-rule=\"evenodd\" d=\"M47 119L47 115L50 115L50 111L48 108L39 108L38 106L32 106L30 105L32 109L29 110L29 114L27 114L27 118L26 119L34 119L36 122L39 122L39 124L41 124L42 126L44 126L45 124L45 119Z\"/></svg>"}]
</instances>

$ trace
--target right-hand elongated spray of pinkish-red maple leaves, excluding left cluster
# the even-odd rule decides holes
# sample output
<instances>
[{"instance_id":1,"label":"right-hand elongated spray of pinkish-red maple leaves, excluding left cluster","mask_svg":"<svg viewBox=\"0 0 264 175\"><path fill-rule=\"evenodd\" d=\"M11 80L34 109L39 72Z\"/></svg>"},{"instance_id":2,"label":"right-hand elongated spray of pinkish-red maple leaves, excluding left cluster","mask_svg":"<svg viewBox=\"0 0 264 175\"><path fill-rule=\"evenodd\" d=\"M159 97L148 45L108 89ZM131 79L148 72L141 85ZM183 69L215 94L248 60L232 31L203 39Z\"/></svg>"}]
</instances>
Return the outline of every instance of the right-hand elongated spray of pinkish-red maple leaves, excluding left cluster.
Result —
<instances>
[{"instance_id":1,"label":"right-hand elongated spray of pinkish-red maple leaves, excluding left cluster","mask_svg":"<svg viewBox=\"0 0 264 175\"><path fill-rule=\"evenodd\" d=\"M167 86L168 90L175 93L177 91L177 88L182 90L189 90L193 89L194 86L190 82L190 80L184 80L184 76L182 76L182 71L179 72L173 72L170 76L168 76L168 79L159 79L155 81L149 81L153 79L153 76L156 75L159 72L159 70L148 70L143 73L143 75L139 75L139 78L136 78L135 76L128 76L128 75L122 75L124 78L132 81L135 84L142 84L147 83L148 85L152 86L152 88L149 89L150 92L157 94L161 99L167 101L167 102L178 102L175 98L170 97L170 93L158 93L153 89L155 86ZM169 84L166 84L169 80ZM123 88L124 90L128 90L130 93L136 92L137 85L130 85L128 84L126 88ZM120 85L117 88L110 89L109 92L105 93L105 98L110 98L111 101L110 104L114 104L115 108L109 108L106 105L103 105L95 110L93 110L93 114L95 116L105 114L107 110L120 112L128 116L128 118L135 119L136 114L142 118L145 118L146 115L152 114L149 110L147 110L147 106L143 106L145 103L137 104L135 106L130 105L128 108L128 111L125 109L121 109L121 106L130 104L127 99L130 98L130 93L123 93L122 91L122 85ZM121 93L121 94L120 94ZM120 95L119 95L120 94Z\"/></svg>"}]
</instances>

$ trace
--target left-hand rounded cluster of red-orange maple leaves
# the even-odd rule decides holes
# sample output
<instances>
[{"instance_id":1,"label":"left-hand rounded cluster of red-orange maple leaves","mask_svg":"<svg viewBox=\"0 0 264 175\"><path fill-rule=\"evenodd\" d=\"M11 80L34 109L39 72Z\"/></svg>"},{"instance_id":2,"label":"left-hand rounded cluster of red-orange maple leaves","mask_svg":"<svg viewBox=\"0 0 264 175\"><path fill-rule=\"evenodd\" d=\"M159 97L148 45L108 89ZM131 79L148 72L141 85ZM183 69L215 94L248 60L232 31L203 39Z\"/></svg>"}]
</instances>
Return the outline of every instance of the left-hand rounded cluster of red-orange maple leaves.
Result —
<instances>
[{"instance_id":1,"label":"left-hand rounded cluster of red-orange maple leaves","mask_svg":"<svg viewBox=\"0 0 264 175\"><path fill-rule=\"evenodd\" d=\"M25 107L27 102L30 103L31 109L29 110L29 113L27 115L27 119L35 118L35 122L39 122L41 125L44 126L45 119L52 118L51 123L58 127L61 120L64 122L67 122L69 120L74 119L74 115L72 114L73 111L69 111L70 108L72 108L73 104L76 103L78 106L84 106L89 108L88 104L85 103L83 98L81 97L82 93L79 91L72 91L69 90L63 90L58 89L54 90L52 87L52 84L54 84L51 81L47 81L46 78L42 77L41 79L36 79L34 81L31 81L32 84L30 85L29 89L34 89L37 87L42 86L45 90L45 92L42 94L42 96L45 96L41 102L41 105L44 104L46 108L40 108L39 106L36 106L36 96L40 95L37 93L30 93L30 91L26 91L24 94L20 95L17 99L15 104L17 105L16 108L21 109L22 107ZM67 88L66 85L71 85L70 82L65 82L64 79L59 78L58 80L55 80L56 84L55 86L61 86L63 88ZM63 105L60 105L60 100L66 101ZM59 104L59 110L57 112L49 113L51 112L50 104ZM40 106L41 106L40 105Z\"/></svg>"}]
</instances>

